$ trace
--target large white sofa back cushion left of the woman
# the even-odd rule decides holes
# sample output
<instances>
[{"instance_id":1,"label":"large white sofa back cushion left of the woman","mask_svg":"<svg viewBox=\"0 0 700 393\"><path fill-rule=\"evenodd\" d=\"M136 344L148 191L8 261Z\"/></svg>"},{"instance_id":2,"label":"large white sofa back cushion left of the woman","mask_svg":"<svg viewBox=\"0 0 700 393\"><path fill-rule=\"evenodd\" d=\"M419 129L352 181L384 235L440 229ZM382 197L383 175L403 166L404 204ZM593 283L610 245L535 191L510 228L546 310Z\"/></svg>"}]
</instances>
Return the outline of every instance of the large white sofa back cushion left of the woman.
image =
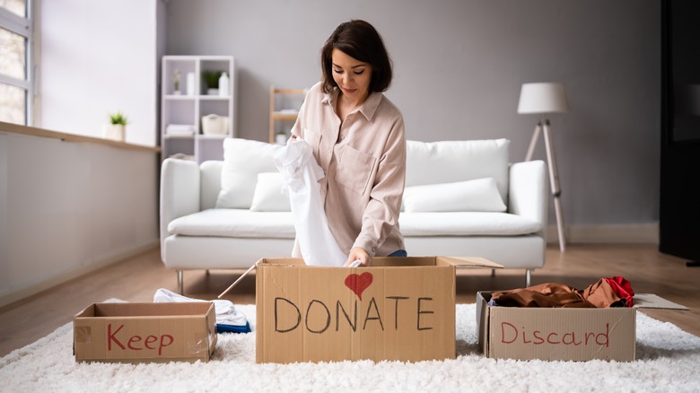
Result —
<instances>
[{"instance_id":1,"label":"large white sofa back cushion left of the woman","mask_svg":"<svg viewBox=\"0 0 700 393\"><path fill-rule=\"evenodd\" d=\"M275 153L281 144L266 144L240 138L223 140L221 191L217 208L248 209L253 201L258 173L275 172Z\"/></svg>"}]
</instances>

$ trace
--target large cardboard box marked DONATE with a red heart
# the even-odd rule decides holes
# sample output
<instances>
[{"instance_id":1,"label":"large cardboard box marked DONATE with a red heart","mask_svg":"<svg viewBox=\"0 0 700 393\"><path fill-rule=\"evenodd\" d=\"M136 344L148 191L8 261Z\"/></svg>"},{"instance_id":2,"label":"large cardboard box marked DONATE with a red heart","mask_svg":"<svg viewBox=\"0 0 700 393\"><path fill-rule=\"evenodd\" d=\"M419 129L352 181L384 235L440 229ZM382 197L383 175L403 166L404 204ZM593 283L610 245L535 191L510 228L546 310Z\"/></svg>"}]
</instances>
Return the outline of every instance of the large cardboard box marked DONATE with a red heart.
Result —
<instances>
[{"instance_id":1,"label":"large cardboard box marked DONATE with a red heart","mask_svg":"<svg viewBox=\"0 0 700 393\"><path fill-rule=\"evenodd\" d=\"M457 266L503 267L484 258L374 258L369 267L261 259L256 361L453 359Z\"/></svg>"}]
</instances>

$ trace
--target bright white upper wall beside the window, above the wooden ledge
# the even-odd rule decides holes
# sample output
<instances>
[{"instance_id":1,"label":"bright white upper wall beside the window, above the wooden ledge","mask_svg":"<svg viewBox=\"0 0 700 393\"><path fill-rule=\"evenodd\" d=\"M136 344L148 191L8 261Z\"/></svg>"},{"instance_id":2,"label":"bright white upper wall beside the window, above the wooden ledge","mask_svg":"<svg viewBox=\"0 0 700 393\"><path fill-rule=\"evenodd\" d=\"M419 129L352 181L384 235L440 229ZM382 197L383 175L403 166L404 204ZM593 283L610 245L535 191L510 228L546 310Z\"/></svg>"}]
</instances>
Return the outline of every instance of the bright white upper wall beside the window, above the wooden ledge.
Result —
<instances>
[{"instance_id":1,"label":"bright white upper wall beside the window, above the wooden ledge","mask_svg":"<svg viewBox=\"0 0 700 393\"><path fill-rule=\"evenodd\" d=\"M127 142L157 144L159 0L39 1L38 127L101 137L127 115Z\"/></svg>"}]
</instances>

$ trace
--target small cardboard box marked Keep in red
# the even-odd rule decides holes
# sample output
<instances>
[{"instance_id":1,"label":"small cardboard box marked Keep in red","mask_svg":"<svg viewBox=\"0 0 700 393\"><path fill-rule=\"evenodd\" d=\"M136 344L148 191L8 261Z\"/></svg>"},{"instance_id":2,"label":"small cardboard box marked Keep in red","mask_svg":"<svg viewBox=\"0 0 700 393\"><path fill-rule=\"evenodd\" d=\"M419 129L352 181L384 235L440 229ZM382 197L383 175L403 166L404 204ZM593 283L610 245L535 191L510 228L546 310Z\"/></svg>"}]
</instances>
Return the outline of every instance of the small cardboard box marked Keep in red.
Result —
<instances>
[{"instance_id":1,"label":"small cardboard box marked Keep in red","mask_svg":"<svg viewBox=\"0 0 700 393\"><path fill-rule=\"evenodd\" d=\"M216 347L210 301L93 303L73 326L78 362L208 362Z\"/></svg>"}]
</instances>

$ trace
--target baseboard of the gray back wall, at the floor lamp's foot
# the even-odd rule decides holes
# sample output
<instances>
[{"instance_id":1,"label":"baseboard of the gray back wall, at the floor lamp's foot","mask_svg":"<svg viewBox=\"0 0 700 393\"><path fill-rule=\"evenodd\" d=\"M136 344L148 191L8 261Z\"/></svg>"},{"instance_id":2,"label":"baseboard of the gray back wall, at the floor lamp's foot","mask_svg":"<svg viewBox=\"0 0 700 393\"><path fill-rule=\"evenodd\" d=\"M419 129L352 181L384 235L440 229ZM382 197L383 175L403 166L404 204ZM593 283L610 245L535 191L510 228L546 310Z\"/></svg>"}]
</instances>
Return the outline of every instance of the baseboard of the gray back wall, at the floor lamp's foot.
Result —
<instances>
[{"instance_id":1,"label":"baseboard of the gray back wall, at the floor lamp's foot","mask_svg":"<svg viewBox=\"0 0 700 393\"><path fill-rule=\"evenodd\" d=\"M659 223L566 225L567 243L659 244ZM556 224L547 226L547 243L558 243Z\"/></svg>"}]
</instances>

